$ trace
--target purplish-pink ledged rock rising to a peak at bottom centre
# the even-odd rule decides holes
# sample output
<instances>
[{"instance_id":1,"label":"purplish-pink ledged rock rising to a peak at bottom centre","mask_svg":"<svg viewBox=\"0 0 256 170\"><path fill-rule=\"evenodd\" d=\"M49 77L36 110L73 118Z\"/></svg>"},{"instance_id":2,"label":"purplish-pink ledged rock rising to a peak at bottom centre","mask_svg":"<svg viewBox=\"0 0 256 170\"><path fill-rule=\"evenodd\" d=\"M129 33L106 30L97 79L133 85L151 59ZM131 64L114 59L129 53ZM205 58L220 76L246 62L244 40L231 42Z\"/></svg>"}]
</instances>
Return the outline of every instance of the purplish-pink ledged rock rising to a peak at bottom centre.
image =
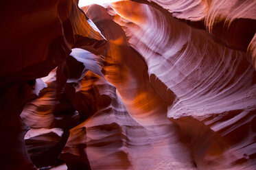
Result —
<instances>
[{"instance_id":1,"label":"purplish-pink ledged rock rising to a peak at bottom centre","mask_svg":"<svg viewBox=\"0 0 256 170\"><path fill-rule=\"evenodd\" d=\"M97 111L71 130L60 157L73 154L79 160L86 150L91 169L195 169L170 121L137 123L116 88L91 72L86 73L77 90L95 98ZM97 95L89 93L91 90Z\"/></svg>"}]
</instances>

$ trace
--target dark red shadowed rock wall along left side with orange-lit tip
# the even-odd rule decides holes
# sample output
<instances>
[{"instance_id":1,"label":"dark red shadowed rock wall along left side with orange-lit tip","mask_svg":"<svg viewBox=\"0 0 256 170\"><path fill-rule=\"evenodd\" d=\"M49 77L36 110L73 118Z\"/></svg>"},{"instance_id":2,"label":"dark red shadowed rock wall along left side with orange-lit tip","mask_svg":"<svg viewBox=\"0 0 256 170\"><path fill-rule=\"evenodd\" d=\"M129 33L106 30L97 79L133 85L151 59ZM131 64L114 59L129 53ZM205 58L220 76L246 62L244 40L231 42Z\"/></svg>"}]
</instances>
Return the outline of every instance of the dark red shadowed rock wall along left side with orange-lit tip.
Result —
<instances>
[{"instance_id":1,"label":"dark red shadowed rock wall along left side with orange-lit tip","mask_svg":"<svg viewBox=\"0 0 256 170\"><path fill-rule=\"evenodd\" d=\"M36 169L25 148L29 127L19 116L25 103L34 98L36 78L64 62L71 48L81 46L95 52L106 43L86 22L77 4L30 0L1 3L0 169Z\"/></svg>"}]
</instances>

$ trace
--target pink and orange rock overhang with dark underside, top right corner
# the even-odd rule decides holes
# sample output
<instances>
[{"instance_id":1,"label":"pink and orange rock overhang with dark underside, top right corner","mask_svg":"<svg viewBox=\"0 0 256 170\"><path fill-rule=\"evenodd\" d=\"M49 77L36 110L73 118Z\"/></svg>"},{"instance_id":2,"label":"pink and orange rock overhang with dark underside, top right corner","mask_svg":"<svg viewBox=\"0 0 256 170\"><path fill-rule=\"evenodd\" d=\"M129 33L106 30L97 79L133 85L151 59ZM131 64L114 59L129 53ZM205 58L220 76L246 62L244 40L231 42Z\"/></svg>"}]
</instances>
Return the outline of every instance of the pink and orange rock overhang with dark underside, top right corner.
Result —
<instances>
[{"instance_id":1,"label":"pink and orange rock overhang with dark underside, top right corner","mask_svg":"<svg viewBox=\"0 0 256 170\"><path fill-rule=\"evenodd\" d=\"M156 7L148 1L136 0ZM207 30L213 40L248 53L248 60L255 66L255 53L249 44L255 43L256 1L158 1L157 5L168 10L172 16L194 27Z\"/></svg>"}]
</instances>

